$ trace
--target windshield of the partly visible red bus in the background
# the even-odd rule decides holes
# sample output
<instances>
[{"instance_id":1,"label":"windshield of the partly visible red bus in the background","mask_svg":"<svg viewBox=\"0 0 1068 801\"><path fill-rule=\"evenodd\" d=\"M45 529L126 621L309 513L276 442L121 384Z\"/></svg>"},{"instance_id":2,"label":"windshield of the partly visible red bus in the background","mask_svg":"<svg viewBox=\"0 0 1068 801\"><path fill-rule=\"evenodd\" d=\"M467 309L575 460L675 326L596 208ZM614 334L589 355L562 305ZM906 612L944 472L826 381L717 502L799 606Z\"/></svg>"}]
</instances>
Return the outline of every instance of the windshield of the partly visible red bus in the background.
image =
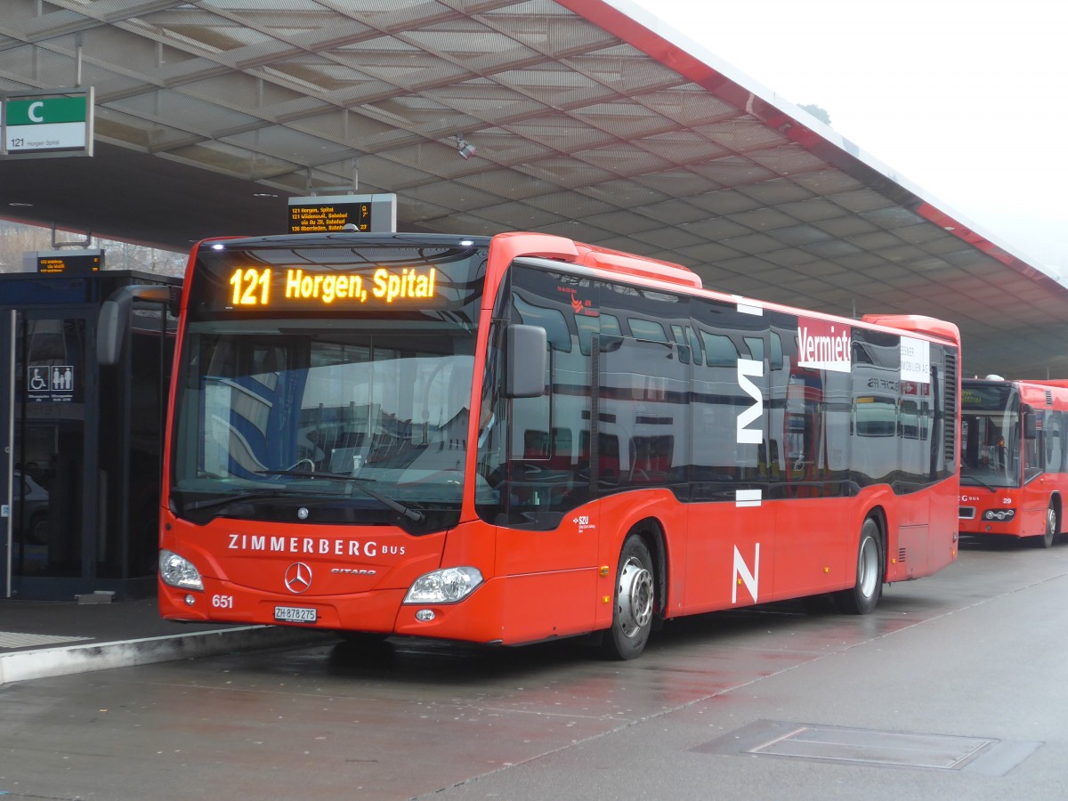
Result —
<instances>
[{"instance_id":1,"label":"windshield of the partly visible red bus in the background","mask_svg":"<svg viewBox=\"0 0 1068 801\"><path fill-rule=\"evenodd\" d=\"M961 400L960 483L1019 487L1019 394L1009 386L965 384Z\"/></svg>"}]
</instances>

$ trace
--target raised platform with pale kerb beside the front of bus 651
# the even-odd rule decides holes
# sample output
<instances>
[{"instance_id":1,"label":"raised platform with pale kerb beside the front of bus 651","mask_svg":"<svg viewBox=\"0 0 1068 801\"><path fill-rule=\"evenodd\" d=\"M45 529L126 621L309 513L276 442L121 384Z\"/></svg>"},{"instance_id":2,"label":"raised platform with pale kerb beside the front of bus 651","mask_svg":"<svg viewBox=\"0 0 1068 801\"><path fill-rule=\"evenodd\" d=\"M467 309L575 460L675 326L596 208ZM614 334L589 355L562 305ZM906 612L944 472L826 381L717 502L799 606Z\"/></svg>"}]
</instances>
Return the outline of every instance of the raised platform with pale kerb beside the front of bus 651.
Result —
<instances>
[{"instance_id":1,"label":"raised platform with pale kerb beside the front of bus 651","mask_svg":"<svg viewBox=\"0 0 1068 801\"><path fill-rule=\"evenodd\" d=\"M159 616L155 598L112 601L0 599L0 687L73 673L239 650L314 643L323 631L276 626L185 624Z\"/></svg>"}]
</instances>

